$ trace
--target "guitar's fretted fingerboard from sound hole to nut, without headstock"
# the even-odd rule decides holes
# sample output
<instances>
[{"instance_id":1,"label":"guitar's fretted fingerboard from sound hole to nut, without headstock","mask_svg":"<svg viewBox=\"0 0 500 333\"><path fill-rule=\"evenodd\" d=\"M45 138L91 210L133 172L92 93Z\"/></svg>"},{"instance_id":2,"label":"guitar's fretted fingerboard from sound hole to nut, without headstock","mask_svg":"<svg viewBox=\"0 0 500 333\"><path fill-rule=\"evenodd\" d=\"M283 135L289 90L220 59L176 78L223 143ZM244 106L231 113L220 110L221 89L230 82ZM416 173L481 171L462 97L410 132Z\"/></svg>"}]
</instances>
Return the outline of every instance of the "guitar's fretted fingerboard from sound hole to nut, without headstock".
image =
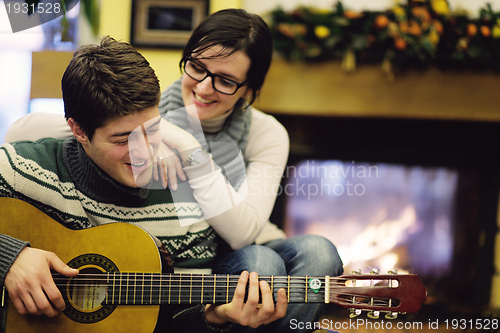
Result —
<instances>
[{"instance_id":1,"label":"guitar's fretted fingerboard from sound hole to nut, without headstock","mask_svg":"<svg viewBox=\"0 0 500 333\"><path fill-rule=\"evenodd\" d=\"M104 277L103 277L104 278ZM231 302L238 275L205 274L106 274L104 304L225 304ZM269 284L275 301L284 288L289 303L328 302L328 277L260 276Z\"/></svg>"}]
</instances>

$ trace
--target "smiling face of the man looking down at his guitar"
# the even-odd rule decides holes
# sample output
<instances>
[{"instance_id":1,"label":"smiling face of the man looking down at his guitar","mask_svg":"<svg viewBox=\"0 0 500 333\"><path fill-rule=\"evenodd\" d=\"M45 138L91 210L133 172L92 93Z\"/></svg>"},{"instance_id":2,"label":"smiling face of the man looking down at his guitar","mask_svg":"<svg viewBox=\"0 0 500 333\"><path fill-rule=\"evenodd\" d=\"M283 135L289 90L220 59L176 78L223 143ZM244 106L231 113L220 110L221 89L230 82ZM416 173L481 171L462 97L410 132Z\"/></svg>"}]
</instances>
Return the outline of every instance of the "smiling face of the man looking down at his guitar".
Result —
<instances>
[{"instance_id":1,"label":"smiling face of the man looking down at his guitar","mask_svg":"<svg viewBox=\"0 0 500 333\"><path fill-rule=\"evenodd\" d=\"M129 187L145 186L161 142L160 120L158 107L151 107L108 121L96 129L92 142L79 141L94 163L114 180Z\"/></svg>"}]
</instances>

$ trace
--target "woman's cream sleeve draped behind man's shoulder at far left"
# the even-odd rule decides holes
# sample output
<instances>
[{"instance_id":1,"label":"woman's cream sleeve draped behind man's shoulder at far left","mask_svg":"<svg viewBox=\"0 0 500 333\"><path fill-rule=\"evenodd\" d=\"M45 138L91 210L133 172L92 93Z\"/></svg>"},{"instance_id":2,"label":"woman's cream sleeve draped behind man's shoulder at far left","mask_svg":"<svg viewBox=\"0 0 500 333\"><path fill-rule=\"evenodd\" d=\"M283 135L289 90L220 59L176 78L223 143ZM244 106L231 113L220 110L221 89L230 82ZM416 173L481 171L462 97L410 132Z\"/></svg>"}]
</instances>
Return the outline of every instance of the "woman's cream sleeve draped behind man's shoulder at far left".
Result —
<instances>
[{"instance_id":1,"label":"woman's cream sleeve draped behind man's shoulder at far left","mask_svg":"<svg viewBox=\"0 0 500 333\"><path fill-rule=\"evenodd\" d=\"M5 134L5 142L68 139L72 135L63 114L30 113L12 124Z\"/></svg>"}]
</instances>

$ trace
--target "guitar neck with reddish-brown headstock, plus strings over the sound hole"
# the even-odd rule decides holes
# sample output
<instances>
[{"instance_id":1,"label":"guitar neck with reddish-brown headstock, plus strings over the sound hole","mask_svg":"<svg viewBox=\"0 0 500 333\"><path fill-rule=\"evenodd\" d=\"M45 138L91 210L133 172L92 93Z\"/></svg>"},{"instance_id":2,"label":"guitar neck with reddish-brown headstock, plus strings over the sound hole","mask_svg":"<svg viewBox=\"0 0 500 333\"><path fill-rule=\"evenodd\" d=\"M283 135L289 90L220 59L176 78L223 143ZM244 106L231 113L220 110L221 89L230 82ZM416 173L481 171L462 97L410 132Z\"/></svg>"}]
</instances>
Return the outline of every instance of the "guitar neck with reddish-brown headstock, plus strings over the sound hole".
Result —
<instances>
[{"instance_id":1,"label":"guitar neck with reddish-brown headstock, plus strings over the sound hole","mask_svg":"<svg viewBox=\"0 0 500 333\"><path fill-rule=\"evenodd\" d=\"M88 304L90 307L95 304L226 304L233 298L238 279L238 275L216 274L79 274L67 290L70 290L69 297L82 304L82 308ZM427 295L415 274L259 276L259 279L267 281L274 301L277 301L278 290L284 288L288 303L334 303L351 309L414 313Z\"/></svg>"}]
</instances>

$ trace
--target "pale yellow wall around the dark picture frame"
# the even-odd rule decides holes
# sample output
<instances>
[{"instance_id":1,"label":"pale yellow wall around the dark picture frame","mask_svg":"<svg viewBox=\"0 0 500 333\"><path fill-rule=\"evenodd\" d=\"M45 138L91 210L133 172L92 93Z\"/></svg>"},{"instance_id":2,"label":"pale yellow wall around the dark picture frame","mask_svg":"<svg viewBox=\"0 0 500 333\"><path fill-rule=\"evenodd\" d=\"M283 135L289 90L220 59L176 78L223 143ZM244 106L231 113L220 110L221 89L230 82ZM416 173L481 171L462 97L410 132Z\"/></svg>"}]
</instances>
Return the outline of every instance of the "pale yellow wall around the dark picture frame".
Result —
<instances>
[{"instance_id":1,"label":"pale yellow wall around the dark picture frame","mask_svg":"<svg viewBox=\"0 0 500 333\"><path fill-rule=\"evenodd\" d=\"M224 8L241 8L241 0L210 0L210 13ZM130 41L132 0L101 1L100 35ZM162 90L180 77L181 50L139 49L160 79Z\"/></svg>"}]
</instances>

